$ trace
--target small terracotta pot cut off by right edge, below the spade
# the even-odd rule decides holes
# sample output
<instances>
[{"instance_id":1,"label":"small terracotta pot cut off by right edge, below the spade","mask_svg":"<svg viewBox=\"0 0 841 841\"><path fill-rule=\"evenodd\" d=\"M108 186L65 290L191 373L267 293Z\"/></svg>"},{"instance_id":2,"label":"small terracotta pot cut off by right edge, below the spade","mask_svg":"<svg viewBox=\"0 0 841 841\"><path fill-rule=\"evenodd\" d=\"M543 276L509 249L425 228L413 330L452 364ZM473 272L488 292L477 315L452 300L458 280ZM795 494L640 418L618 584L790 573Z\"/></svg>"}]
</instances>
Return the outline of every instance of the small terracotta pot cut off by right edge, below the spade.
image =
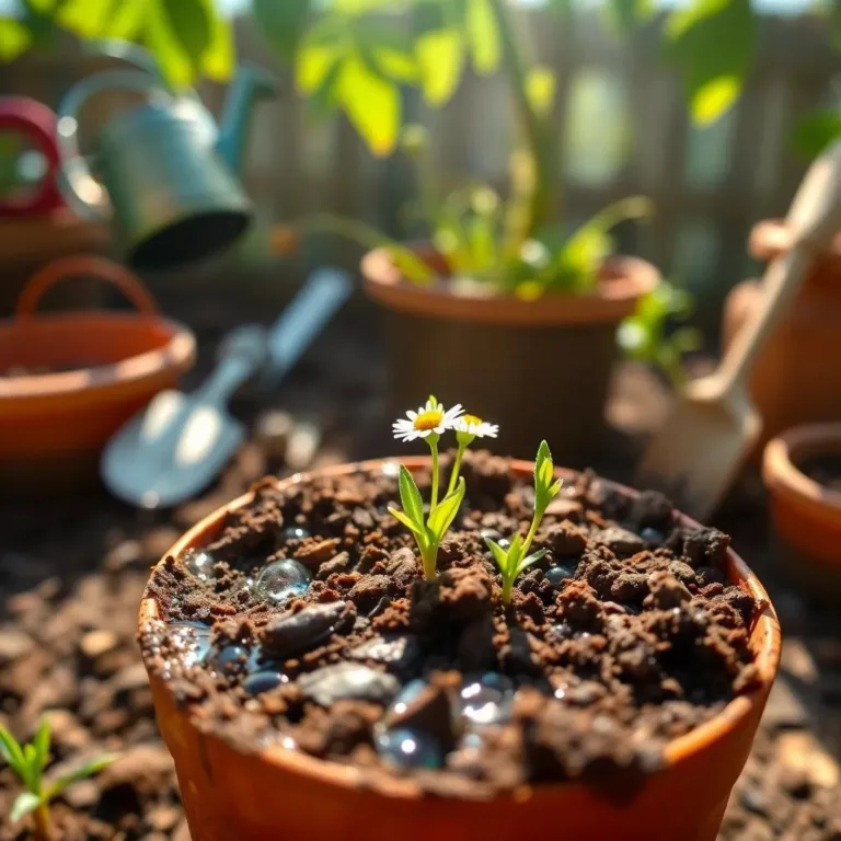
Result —
<instances>
[{"instance_id":1,"label":"small terracotta pot cut off by right edge, below the spade","mask_svg":"<svg viewBox=\"0 0 841 841\"><path fill-rule=\"evenodd\" d=\"M813 596L841 602L841 493L800 470L817 456L841 458L841 424L798 426L774 438L762 477L781 565Z\"/></svg>"}]
</instances>

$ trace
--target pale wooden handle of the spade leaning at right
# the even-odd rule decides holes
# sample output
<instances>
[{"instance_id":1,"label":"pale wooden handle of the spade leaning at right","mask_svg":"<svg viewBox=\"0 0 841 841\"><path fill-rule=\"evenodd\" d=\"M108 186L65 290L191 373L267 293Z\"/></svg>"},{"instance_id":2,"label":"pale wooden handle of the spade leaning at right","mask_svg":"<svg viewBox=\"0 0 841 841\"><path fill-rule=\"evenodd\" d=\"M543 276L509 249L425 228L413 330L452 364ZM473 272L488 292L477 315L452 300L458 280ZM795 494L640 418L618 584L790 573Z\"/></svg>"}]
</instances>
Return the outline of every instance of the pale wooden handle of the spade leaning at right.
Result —
<instances>
[{"instance_id":1,"label":"pale wooden handle of the spade leaning at right","mask_svg":"<svg viewBox=\"0 0 841 841\"><path fill-rule=\"evenodd\" d=\"M793 245L769 265L759 309L722 361L717 376L724 392L747 379L764 339L794 300L811 262L841 230L841 140L813 162L785 223L793 232Z\"/></svg>"}]
</instances>

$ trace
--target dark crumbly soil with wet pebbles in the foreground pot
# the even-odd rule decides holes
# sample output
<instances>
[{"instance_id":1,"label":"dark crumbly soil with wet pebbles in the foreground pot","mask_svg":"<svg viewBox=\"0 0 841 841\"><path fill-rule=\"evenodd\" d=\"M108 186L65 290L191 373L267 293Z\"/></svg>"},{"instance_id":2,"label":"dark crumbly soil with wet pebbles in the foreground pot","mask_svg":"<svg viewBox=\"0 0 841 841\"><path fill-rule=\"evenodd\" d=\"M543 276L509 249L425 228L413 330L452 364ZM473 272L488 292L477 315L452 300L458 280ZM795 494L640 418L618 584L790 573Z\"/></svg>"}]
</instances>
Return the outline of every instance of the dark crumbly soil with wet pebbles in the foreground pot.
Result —
<instances>
[{"instance_id":1,"label":"dark crumbly soil with wet pebbles in the foreground pot","mask_svg":"<svg viewBox=\"0 0 841 841\"><path fill-rule=\"evenodd\" d=\"M629 792L667 740L753 686L756 606L725 583L729 540L677 526L659 494L630 499L583 474L506 610L482 534L525 531L530 483L507 460L470 459L426 581L387 511L393 473L267 482L209 545L155 571L163 621L141 645L198 726L353 763L369 784L387 772L450 796L575 779Z\"/></svg>"}]
</instances>

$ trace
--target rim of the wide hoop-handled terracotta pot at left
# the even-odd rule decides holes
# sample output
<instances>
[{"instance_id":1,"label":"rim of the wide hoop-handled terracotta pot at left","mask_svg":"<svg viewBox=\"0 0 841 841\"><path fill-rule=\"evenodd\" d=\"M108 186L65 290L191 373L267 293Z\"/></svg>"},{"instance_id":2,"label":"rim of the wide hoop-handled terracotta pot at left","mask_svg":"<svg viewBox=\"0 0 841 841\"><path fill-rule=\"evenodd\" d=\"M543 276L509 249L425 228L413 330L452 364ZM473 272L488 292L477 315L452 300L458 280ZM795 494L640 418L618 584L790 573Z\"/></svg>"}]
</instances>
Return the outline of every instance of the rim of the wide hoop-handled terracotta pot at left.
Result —
<instances>
[{"instance_id":1,"label":"rim of the wide hoop-handled terracotta pot at left","mask_svg":"<svg viewBox=\"0 0 841 841\"><path fill-rule=\"evenodd\" d=\"M57 395L92 394L115 385L124 385L154 377L164 370L184 370L196 356L196 337L189 327L157 315L122 312L68 312L38 314L27 321L0 323L0 332L49 330L55 324L74 329L95 329L103 323L136 325L153 322L165 330L165 345L117 362L79 368L72 371L0 378L0 401L39 400Z\"/></svg>"}]
</instances>

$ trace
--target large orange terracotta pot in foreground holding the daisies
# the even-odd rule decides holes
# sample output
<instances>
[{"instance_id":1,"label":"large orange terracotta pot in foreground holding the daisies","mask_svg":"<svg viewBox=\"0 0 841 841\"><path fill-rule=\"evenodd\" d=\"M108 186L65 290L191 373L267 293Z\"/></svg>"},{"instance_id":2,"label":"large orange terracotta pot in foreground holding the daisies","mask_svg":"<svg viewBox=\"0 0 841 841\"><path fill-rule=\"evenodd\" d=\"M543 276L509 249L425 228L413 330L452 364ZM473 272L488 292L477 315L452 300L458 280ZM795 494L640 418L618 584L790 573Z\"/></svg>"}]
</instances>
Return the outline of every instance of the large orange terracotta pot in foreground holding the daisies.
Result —
<instances>
[{"instance_id":1,"label":"large orange terracotta pot in foreground holding the daisies","mask_svg":"<svg viewBox=\"0 0 841 841\"><path fill-rule=\"evenodd\" d=\"M428 463L402 461L415 470ZM376 471L384 463L349 464L329 472ZM512 470L528 477L532 465L515 462ZM306 482L308 476L285 483L295 481ZM246 494L220 508L168 554L206 544L224 527L229 511L252 500L253 494ZM684 518L684 522L691 521ZM648 777L624 805L583 785L539 785L482 803L418 798L412 795L414 788L396 779L389 787L362 788L354 768L276 746L249 754L199 733L166 684L150 673L158 724L175 759L193 841L393 841L395 836L403 841L520 841L545 836L553 826L565 841L714 841L780 659L780 625L762 585L734 552L728 563L730 579L768 603L751 636L761 684L671 741L666 770ZM141 631L158 615L154 600L146 598L140 606Z\"/></svg>"}]
</instances>

